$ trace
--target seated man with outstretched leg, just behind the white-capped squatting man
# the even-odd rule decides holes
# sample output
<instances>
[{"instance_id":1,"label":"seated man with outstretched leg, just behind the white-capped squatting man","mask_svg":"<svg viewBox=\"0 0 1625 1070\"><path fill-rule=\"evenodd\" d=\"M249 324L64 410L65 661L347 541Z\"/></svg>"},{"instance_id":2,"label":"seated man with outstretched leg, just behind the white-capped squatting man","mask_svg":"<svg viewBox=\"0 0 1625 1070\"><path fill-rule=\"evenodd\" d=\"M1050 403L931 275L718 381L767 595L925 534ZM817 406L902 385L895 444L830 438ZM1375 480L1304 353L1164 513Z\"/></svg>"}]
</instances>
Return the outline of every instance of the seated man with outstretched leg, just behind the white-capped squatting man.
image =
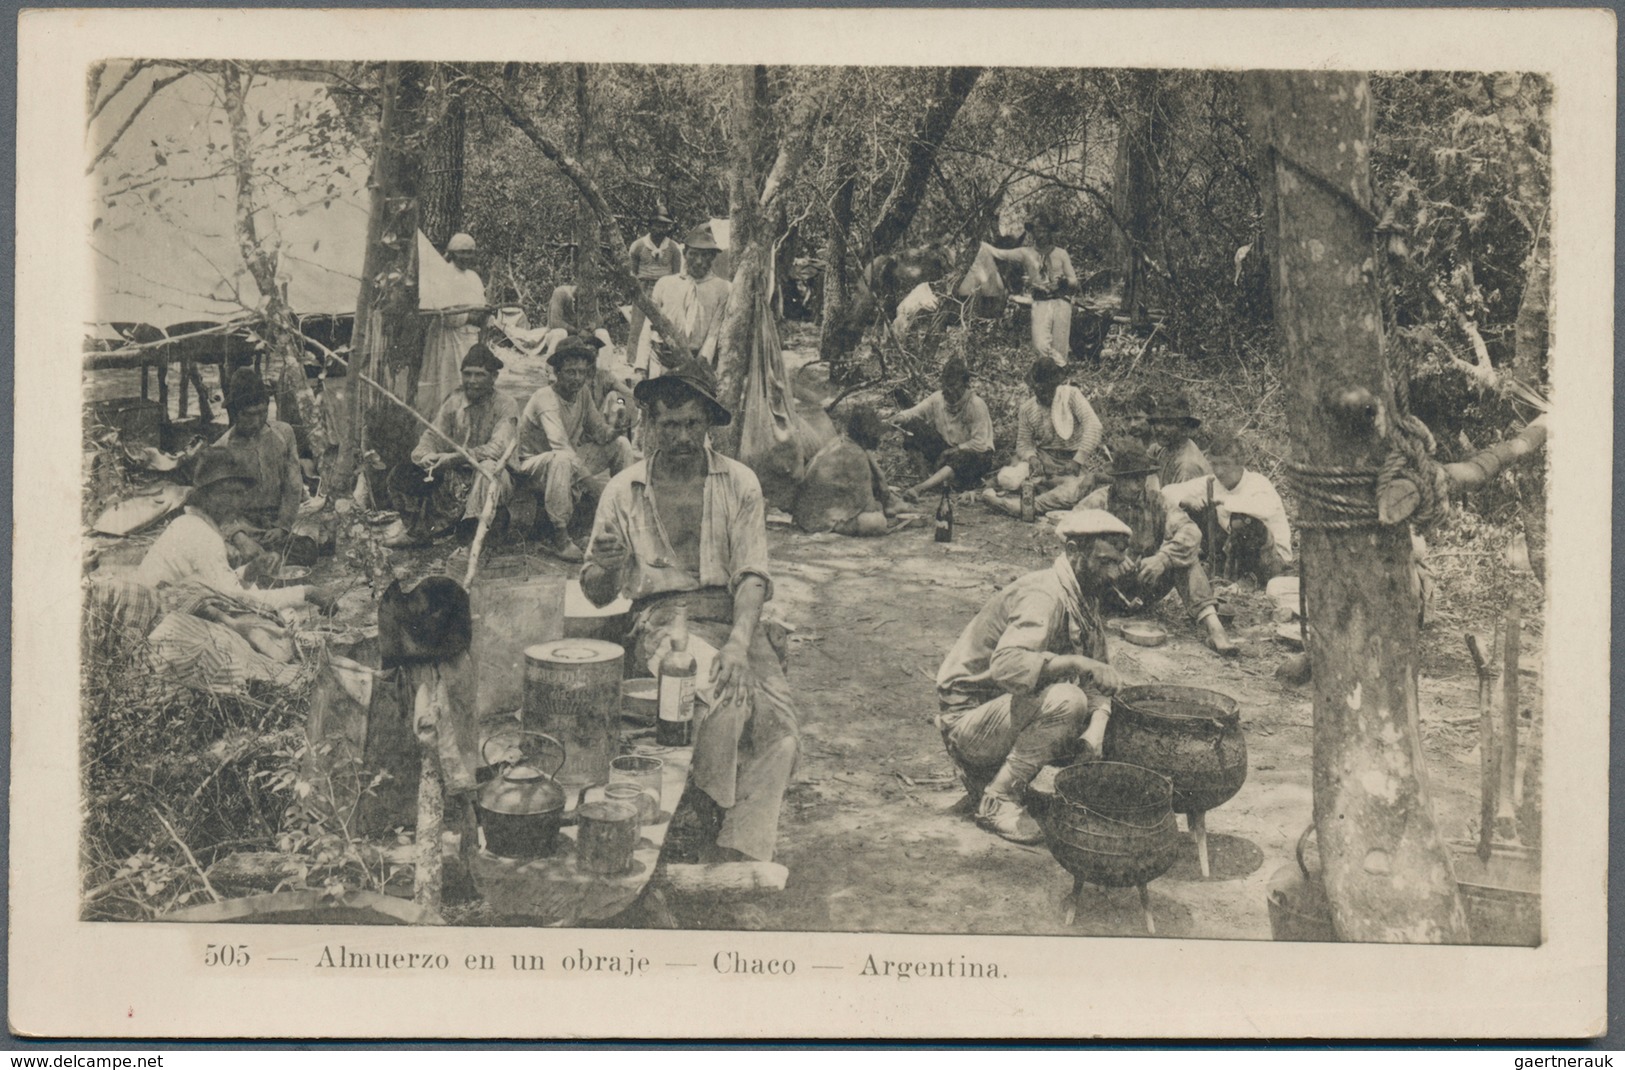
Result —
<instances>
[{"instance_id":1,"label":"seated man with outstretched leg, just behind the white-capped squatting man","mask_svg":"<svg viewBox=\"0 0 1625 1070\"><path fill-rule=\"evenodd\" d=\"M1139 442L1116 442L1112 481L1077 502L1077 509L1105 509L1133 532L1128 558L1134 568L1107 592L1105 602L1113 611L1126 613L1152 607L1178 587L1185 608L1207 633L1207 647L1232 657L1238 650L1219 620L1214 589L1199 561L1201 528L1162 496L1155 473L1157 467Z\"/></svg>"}]
</instances>

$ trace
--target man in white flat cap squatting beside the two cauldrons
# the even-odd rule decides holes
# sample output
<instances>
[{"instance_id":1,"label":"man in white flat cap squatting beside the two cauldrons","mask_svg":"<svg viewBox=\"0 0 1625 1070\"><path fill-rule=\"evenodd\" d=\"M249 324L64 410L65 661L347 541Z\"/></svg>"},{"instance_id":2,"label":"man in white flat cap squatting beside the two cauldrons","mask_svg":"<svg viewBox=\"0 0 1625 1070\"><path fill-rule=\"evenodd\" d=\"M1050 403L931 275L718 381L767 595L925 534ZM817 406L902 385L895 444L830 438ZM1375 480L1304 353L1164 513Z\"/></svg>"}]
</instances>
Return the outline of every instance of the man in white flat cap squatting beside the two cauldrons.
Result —
<instances>
[{"instance_id":1,"label":"man in white flat cap squatting beside the two cauldrons","mask_svg":"<svg viewBox=\"0 0 1625 1070\"><path fill-rule=\"evenodd\" d=\"M1100 509L1068 512L1056 532L1055 564L993 595L936 673L936 725L977 824L1017 844L1043 839L1027 785L1043 766L1100 756L1118 689L1100 598L1131 532Z\"/></svg>"}]
</instances>

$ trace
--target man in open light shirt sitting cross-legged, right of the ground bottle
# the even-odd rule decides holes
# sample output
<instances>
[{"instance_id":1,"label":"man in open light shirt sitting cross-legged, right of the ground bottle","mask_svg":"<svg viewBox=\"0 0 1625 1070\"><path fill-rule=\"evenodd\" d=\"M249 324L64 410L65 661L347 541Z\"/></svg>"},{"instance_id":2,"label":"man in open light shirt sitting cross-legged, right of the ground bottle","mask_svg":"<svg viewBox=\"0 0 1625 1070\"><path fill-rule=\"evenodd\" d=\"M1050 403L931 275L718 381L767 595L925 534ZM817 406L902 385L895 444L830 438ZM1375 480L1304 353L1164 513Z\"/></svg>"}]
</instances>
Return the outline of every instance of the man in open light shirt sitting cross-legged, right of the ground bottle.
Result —
<instances>
[{"instance_id":1,"label":"man in open light shirt sitting cross-legged, right of the ground bottle","mask_svg":"<svg viewBox=\"0 0 1625 1070\"><path fill-rule=\"evenodd\" d=\"M1084 392L1066 382L1066 371L1046 356L1027 372L1032 397L1016 411L1016 465L999 473L1009 478L1027 467L1027 478L1038 481L1038 514L1071 509L1094 488L1105 459L1100 446L1100 418ZM1020 476L1014 476L1016 483ZM988 488L982 501L1012 517L1020 515L1020 498L1001 496Z\"/></svg>"}]
</instances>

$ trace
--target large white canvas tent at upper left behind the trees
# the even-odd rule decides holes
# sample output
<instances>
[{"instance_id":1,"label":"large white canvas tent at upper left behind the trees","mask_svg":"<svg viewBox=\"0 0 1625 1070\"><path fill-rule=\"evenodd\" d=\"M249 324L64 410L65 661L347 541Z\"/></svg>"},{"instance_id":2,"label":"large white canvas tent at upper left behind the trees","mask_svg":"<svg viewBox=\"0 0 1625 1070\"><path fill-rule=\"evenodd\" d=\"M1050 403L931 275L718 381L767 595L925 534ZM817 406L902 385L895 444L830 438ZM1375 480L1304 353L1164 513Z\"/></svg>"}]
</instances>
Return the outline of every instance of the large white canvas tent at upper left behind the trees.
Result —
<instances>
[{"instance_id":1,"label":"large white canvas tent at upper left behind the trees","mask_svg":"<svg viewBox=\"0 0 1625 1070\"><path fill-rule=\"evenodd\" d=\"M130 70L112 62L104 93ZM141 70L96 117L86 158L130 119L158 78ZM370 158L343 122L323 81L255 76L247 89L255 156L255 226L278 250L278 276L296 314L356 307L367 239ZM252 315L260 291L236 236L237 189L231 127L218 76L197 72L162 86L135 114L89 176L94 296L88 322L226 322ZM448 265L422 236L422 307Z\"/></svg>"}]
</instances>

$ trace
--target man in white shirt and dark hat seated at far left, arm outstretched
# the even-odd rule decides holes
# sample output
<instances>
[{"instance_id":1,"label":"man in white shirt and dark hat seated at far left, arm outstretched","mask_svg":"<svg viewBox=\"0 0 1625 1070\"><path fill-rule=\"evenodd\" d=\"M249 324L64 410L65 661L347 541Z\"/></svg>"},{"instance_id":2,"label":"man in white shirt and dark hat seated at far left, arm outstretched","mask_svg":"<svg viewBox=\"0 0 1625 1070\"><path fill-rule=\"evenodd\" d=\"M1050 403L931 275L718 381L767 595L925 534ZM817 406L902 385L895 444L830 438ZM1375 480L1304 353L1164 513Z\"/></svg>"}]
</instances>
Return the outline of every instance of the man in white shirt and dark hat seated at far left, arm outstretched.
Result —
<instances>
[{"instance_id":1,"label":"man in white shirt and dark hat seated at far left, arm outstretched","mask_svg":"<svg viewBox=\"0 0 1625 1070\"><path fill-rule=\"evenodd\" d=\"M323 587L254 590L244 587L242 579L232 571L221 527L242 515L252 489L254 476L236 454L221 447L203 450L185 512L171 520L141 558L135 571L136 582L148 587L200 582L218 594L265 610L304 602L330 610L335 598Z\"/></svg>"}]
</instances>

